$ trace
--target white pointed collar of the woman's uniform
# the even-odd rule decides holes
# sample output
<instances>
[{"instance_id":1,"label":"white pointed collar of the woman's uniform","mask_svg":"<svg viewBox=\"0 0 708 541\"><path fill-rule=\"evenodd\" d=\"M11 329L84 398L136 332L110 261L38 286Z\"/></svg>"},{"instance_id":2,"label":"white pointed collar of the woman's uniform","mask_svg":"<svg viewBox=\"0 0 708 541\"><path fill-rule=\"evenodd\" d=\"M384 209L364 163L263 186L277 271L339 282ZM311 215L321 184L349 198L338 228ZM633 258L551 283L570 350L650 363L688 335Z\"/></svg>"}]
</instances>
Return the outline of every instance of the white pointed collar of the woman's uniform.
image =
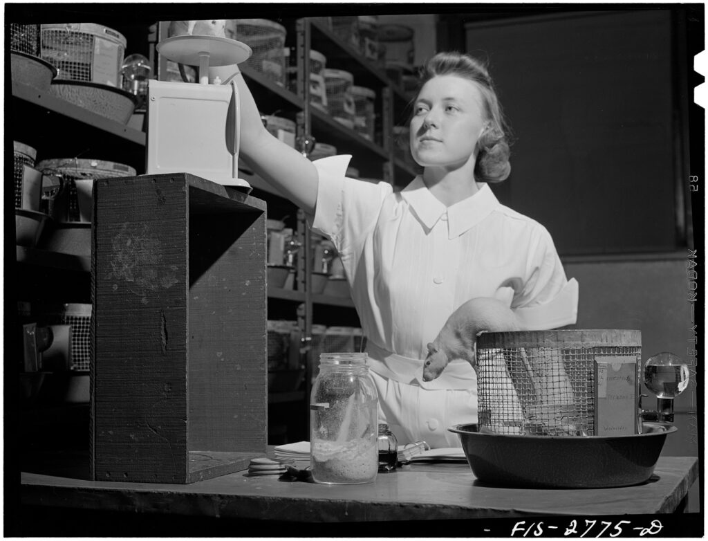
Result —
<instances>
[{"instance_id":1,"label":"white pointed collar of the woman's uniform","mask_svg":"<svg viewBox=\"0 0 708 541\"><path fill-rule=\"evenodd\" d=\"M438 220L447 217L448 238L454 239L484 220L500 203L489 185L484 183L479 191L469 198L445 207L430 193L418 175L401 190L401 196L413 209L413 214L426 229L433 229Z\"/></svg>"}]
</instances>

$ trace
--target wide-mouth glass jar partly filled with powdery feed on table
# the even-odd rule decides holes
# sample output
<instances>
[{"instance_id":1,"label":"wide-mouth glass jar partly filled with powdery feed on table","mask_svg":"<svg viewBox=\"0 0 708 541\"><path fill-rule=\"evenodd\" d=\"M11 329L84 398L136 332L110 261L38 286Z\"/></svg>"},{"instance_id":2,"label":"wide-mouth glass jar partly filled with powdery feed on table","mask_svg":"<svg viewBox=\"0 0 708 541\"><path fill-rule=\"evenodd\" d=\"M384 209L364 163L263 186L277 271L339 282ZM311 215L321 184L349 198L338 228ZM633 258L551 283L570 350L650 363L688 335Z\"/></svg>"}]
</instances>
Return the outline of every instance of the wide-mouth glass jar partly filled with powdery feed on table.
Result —
<instances>
[{"instance_id":1,"label":"wide-mouth glass jar partly filled with powdery feed on table","mask_svg":"<svg viewBox=\"0 0 708 541\"><path fill-rule=\"evenodd\" d=\"M361 484L376 479L378 395L366 353L322 353L310 402L312 479Z\"/></svg>"}]
</instances>

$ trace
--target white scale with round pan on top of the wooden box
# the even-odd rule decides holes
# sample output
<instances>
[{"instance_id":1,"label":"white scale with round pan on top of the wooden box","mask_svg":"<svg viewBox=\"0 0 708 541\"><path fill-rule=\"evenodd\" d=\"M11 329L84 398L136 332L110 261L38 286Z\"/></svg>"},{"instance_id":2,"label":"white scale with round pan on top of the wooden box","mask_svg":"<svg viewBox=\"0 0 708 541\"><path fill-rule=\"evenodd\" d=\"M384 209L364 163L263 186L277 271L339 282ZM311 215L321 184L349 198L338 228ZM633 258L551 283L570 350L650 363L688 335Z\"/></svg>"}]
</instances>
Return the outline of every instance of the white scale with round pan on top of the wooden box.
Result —
<instances>
[{"instance_id":1,"label":"white scale with round pan on top of the wooden box","mask_svg":"<svg viewBox=\"0 0 708 541\"><path fill-rule=\"evenodd\" d=\"M147 174L191 173L246 193L239 178L241 103L231 75L251 56L245 43L208 35L178 35L159 42L167 59L199 67L199 82L150 80L147 107ZM233 72L210 84L210 69ZM213 71L213 70L212 70Z\"/></svg>"}]
</instances>

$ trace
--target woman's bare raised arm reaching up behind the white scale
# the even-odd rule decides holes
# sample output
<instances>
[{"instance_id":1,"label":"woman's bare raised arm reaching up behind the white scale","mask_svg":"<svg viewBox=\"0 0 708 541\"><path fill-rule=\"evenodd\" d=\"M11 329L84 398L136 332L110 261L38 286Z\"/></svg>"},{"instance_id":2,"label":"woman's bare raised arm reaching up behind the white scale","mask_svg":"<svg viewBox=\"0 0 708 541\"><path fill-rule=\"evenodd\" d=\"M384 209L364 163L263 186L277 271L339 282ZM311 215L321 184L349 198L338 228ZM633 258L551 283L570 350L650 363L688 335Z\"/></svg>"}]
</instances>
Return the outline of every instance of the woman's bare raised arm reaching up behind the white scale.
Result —
<instances>
[{"instance_id":1,"label":"woman's bare raised arm reaching up behind the white scale","mask_svg":"<svg viewBox=\"0 0 708 541\"><path fill-rule=\"evenodd\" d=\"M314 214L319 175L312 162L288 144L270 135L244 77L234 76L241 101L241 158L273 188Z\"/></svg>"}]
</instances>

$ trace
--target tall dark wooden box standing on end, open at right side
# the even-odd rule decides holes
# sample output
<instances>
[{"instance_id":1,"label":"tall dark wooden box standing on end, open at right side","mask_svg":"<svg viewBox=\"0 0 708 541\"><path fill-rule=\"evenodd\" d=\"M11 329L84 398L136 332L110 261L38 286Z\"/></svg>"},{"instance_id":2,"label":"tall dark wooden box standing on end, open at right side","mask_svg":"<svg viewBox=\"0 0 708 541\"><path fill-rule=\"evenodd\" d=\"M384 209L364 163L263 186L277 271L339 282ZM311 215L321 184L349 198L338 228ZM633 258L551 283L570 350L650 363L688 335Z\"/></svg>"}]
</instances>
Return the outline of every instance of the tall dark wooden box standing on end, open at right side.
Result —
<instances>
[{"instance_id":1,"label":"tall dark wooden box standing on end, open at right side","mask_svg":"<svg viewBox=\"0 0 708 541\"><path fill-rule=\"evenodd\" d=\"M191 483L265 453L265 203L186 173L93 188L93 479Z\"/></svg>"}]
</instances>

